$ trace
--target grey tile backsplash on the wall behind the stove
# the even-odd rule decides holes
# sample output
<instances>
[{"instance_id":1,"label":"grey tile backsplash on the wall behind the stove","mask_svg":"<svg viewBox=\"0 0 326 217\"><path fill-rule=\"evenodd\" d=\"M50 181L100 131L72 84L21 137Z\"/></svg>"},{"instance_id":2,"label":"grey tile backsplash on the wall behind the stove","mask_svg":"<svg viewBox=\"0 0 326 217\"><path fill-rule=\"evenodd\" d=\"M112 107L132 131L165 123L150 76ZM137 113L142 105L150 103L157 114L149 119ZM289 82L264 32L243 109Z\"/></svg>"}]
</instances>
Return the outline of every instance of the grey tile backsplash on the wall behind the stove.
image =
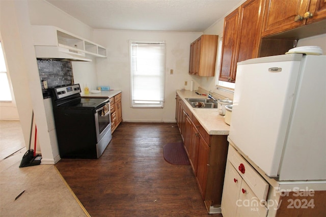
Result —
<instances>
[{"instance_id":1,"label":"grey tile backsplash on the wall behind the stove","mask_svg":"<svg viewBox=\"0 0 326 217\"><path fill-rule=\"evenodd\" d=\"M69 85L73 83L71 61L55 59L37 59L43 99L50 97L50 92L44 88L43 81L47 82L47 88Z\"/></svg>"}]
</instances>

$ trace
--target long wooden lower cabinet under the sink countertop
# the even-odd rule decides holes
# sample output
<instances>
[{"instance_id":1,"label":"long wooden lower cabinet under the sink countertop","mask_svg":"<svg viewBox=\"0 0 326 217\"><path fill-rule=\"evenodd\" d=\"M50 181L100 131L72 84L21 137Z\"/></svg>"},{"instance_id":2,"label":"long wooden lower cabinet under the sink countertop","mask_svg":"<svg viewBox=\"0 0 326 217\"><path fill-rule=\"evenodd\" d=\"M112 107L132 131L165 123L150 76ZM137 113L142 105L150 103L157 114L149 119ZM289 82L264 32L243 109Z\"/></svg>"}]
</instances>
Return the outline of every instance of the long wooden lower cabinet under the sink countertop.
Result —
<instances>
[{"instance_id":1,"label":"long wooden lower cabinet under the sink countertop","mask_svg":"<svg viewBox=\"0 0 326 217\"><path fill-rule=\"evenodd\" d=\"M220 208L228 151L227 135L209 135L179 96L176 120L202 199L209 213ZM219 212L219 211L216 211Z\"/></svg>"}]
</instances>

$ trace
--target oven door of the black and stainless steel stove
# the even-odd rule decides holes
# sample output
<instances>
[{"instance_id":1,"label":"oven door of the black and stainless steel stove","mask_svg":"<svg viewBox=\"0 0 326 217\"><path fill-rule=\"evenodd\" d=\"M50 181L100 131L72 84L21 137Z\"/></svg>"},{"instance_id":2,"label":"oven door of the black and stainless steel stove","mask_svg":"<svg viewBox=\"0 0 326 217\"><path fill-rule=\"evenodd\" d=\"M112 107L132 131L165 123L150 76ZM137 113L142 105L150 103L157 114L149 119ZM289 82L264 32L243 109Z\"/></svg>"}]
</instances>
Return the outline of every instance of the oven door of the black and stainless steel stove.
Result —
<instances>
[{"instance_id":1,"label":"oven door of the black and stainless steel stove","mask_svg":"<svg viewBox=\"0 0 326 217\"><path fill-rule=\"evenodd\" d=\"M107 108L108 107L108 108ZM111 111L110 111L110 103L106 104L107 111L104 113L104 107L95 110L95 128L96 128L96 138L97 142L99 142L102 137L107 133L107 131L111 131ZM104 110L103 110L104 109Z\"/></svg>"}]
</instances>

